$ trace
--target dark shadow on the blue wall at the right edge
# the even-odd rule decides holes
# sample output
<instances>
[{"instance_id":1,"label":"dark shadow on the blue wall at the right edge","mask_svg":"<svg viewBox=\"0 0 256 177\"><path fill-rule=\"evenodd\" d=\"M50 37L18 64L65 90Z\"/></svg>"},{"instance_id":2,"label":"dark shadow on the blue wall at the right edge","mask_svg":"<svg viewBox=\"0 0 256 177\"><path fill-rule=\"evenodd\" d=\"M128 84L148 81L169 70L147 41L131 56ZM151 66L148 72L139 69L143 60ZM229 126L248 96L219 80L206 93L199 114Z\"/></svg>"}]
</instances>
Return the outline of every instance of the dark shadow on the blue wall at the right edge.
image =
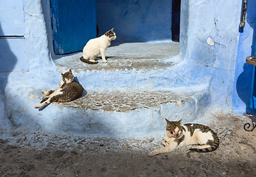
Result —
<instances>
[{"instance_id":1,"label":"dark shadow on the blue wall at the right edge","mask_svg":"<svg viewBox=\"0 0 256 177\"><path fill-rule=\"evenodd\" d=\"M249 4L250 3L250 4ZM249 1L247 4L247 12L246 12L246 22L247 25L249 24L250 27L252 27L253 35L252 35L252 45L251 45L251 54L249 55L255 55L255 38L256 38L256 10L254 7L254 4L256 3L256 0ZM242 59L240 59L242 60ZM245 61L246 58L243 58ZM252 76L254 72L254 67L249 63L243 64L243 72L239 75L236 85L236 90L238 93L238 96L243 101L243 103L246 104L246 113L249 114L256 114L256 110L250 108L250 100L252 99ZM255 83L256 84L256 83ZM256 86L256 85L255 85ZM254 89L256 87L254 86Z\"/></svg>"}]
</instances>

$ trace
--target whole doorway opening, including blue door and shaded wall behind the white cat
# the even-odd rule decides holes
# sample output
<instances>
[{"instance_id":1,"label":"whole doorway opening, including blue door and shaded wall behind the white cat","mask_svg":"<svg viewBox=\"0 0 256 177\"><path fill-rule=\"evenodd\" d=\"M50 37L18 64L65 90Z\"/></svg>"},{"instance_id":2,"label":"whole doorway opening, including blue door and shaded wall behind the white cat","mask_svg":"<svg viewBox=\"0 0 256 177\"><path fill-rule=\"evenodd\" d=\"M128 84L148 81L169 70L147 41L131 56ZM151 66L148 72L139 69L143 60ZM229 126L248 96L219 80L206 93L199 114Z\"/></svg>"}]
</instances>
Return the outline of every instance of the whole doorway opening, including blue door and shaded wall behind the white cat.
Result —
<instances>
[{"instance_id":1,"label":"whole doorway opening, including blue door and shaded wall behind the white cat","mask_svg":"<svg viewBox=\"0 0 256 177\"><path fill-rule=\"evenodd\" d=\"M181 0L50 0L55 54L81 51L114 27L112 46L179 41ZM97 35L98 33L98 35Z\"/></svg>"}]
</instances>

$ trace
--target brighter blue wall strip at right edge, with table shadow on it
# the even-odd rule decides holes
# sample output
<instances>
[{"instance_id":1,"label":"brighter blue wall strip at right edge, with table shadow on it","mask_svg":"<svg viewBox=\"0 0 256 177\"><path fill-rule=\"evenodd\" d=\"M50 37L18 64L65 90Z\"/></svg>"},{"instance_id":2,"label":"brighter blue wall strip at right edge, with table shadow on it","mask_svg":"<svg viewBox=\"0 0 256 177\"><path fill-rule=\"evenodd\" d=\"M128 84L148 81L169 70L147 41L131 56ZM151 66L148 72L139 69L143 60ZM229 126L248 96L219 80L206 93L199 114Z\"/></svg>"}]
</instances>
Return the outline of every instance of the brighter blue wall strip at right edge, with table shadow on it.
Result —
<instances>
[{"instance_id":1,"label":"brighter blue wall strip at right edge, with table shadow on it","mask_svg":"<svg viewBox=\"0 0 256 177\"><path fill-rule=\"evenodd\" d=\"M256 36L256 0L247 2L246 26L239 35L238 55L236 58L235 78L232 97L232 107L235 113L248 112L255 114L249 107L252 93L252 77L254 67L246 63L246 57L255 55Z\"/></svg>"}]
</instances>

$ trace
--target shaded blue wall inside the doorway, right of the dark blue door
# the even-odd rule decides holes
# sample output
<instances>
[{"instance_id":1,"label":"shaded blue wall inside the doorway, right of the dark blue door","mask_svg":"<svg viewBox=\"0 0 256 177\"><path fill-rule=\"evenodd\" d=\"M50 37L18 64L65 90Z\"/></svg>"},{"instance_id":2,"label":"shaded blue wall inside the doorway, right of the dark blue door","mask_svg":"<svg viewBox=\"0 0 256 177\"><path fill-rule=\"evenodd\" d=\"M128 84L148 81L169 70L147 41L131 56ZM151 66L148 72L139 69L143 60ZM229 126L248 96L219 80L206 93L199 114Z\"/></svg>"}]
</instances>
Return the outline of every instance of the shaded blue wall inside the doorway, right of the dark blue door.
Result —
<instances>
[{"instance_id":1,"label":"shaded blue wall inside the doorway, right of the dark blue door","mask_svg":"<svg viewBox=\"0 0 256 177\"><path fill-rule=\"evenodd\" d=\"M115 27L114 43L171 39L172 0L96 0L99 34Z\"/></svg>"}]
</instances>

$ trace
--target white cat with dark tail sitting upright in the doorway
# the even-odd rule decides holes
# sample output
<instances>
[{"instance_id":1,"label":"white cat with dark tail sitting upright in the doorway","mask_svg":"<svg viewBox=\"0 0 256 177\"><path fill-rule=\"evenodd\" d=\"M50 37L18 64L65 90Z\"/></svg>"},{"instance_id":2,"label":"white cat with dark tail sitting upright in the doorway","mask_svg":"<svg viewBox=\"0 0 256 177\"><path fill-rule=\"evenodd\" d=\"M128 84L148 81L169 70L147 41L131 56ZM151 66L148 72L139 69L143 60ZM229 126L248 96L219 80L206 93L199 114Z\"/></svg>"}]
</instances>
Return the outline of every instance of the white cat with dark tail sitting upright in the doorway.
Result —
<instances>
[{"instance_id":1,"label":"white cat with dark tail sitting upright in the doorway","mask_svg":"<svg viewBox=\"0 0 256 177\"><path fill-rule=\"evenodd\" d=\"M96 64L95 58L101 54L101 58L104 63L107 63L105 58L105 51L110 46L111 41L116 39L114 28L101 35L98 38L90 39L83 49L83 56L80 58L81 61L90 64Z\"/></svg>"}]
</instances>

